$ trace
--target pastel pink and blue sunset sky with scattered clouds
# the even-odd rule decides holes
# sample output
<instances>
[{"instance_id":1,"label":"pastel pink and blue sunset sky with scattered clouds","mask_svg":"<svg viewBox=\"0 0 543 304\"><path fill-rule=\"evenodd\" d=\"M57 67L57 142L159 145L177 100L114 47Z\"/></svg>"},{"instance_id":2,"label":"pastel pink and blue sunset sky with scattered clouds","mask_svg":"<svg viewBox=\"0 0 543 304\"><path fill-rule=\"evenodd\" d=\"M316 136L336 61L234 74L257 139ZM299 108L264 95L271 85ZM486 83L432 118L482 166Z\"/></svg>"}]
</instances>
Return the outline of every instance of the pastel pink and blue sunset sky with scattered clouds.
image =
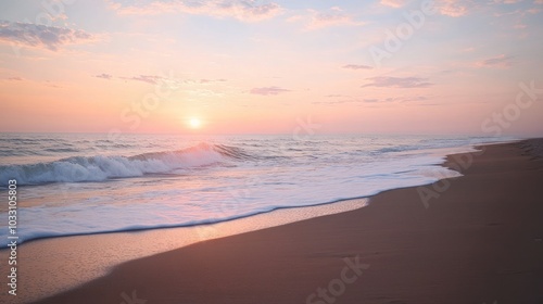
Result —
<instances>
[{"instance_id":1,"label":"pastel pink and blue sunset sky with scattered clouds","mask_svg":"<svg viewBox=\"0 0 543 304\"><path fill-rule=\"evenodd\" d=\"M543 0L0 0L0 131L543 136Z\"/></svg>"}]
</instances>

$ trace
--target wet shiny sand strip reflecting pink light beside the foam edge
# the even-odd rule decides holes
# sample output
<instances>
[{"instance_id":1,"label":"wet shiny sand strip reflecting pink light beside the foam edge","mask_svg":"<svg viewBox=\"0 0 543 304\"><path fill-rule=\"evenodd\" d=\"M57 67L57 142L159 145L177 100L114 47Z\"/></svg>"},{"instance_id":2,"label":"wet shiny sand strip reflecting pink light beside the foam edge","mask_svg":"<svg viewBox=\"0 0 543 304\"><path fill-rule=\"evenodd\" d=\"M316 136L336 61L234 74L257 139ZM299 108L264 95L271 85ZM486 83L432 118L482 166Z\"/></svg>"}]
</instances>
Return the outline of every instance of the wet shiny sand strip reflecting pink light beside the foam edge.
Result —
<instances>
[{"instance_id":1,"label":"wet shiny sand strip reflecting pink light beside the foam edge","mask_svg":"<svg viewBox=\"0 0 543 304\"><path fill-rule=\"evenodd\" d=\"M23 282L23 288L16 297L0 294L0 302L36 301L106 276L115 266L128 261L212 239L349 212L366 206L367 202L368 199L359 198L320 205L278 208L207 225L30 240L18 245L18 259L24 263L20 265L22 271L18 281ZM9 254L9 249L0 250L2 259L7 259Z\"/></svg>"}]
</instances>

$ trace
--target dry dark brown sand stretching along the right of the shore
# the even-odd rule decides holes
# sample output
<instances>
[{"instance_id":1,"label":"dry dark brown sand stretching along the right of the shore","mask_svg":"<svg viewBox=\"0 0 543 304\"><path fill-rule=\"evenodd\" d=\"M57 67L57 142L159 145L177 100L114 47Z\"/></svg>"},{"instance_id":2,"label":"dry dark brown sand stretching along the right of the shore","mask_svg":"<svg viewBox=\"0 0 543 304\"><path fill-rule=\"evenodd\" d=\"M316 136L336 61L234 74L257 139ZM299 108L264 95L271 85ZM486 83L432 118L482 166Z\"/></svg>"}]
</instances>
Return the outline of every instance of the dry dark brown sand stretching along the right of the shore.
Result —
<instances>
[{"instance_id":1,"label":"dry dark brown sand stretching along the right of the shore","mask_svg":"<svg viewBox=\"0 0 543 304\"><path fill-rule=\"evenodd\" d=\"M124 263L35 303L543 303L542 147L450 155L463 177Z\"/></svg>"}]
</instances>

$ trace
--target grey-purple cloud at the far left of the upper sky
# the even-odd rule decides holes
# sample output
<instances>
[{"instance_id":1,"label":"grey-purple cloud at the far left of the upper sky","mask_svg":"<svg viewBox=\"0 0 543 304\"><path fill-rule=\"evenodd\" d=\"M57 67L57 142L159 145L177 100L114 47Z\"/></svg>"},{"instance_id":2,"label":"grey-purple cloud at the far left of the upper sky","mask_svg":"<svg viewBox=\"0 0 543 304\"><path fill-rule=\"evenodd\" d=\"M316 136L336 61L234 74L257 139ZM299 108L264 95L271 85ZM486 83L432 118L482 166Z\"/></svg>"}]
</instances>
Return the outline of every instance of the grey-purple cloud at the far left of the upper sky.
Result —
<instances>
[{"instance_id":1,"label":"grey-purple cloud at the far left of the upper sky","mask_svg":"<svg viewBox=\"0 0 543 304\"><path fill-rule=\"evenodd\" d=\"M67 45L90 42L94 36L79 29L0 21L0 41L58 51Z\"/></svg>"}]
</instances>

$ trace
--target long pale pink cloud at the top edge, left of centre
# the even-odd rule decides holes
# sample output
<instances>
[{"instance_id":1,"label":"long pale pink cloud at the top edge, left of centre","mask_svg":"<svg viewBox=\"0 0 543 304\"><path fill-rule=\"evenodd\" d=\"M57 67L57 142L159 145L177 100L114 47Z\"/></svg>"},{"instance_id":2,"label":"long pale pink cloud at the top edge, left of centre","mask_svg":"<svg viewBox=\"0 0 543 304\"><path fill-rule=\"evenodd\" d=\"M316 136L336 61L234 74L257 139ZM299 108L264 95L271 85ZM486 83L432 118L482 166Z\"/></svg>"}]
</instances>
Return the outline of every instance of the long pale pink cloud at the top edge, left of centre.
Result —
<instances>
[{"instance_id":1,"label":"long pale pink cloud at the top edge, left of centre","mask_svg":"<svg viewBox=\"0 0 543 304\"><path fill-rule=\"evenodd\" d=\"M231 17L243 22L268 20L280 14L282 8L274 2L257 3L255 0L151 0L147 3L121 3L109 0L110 9L125 15L156 15L186 13L213 17Z\"/></svg>"}]
</instances>

